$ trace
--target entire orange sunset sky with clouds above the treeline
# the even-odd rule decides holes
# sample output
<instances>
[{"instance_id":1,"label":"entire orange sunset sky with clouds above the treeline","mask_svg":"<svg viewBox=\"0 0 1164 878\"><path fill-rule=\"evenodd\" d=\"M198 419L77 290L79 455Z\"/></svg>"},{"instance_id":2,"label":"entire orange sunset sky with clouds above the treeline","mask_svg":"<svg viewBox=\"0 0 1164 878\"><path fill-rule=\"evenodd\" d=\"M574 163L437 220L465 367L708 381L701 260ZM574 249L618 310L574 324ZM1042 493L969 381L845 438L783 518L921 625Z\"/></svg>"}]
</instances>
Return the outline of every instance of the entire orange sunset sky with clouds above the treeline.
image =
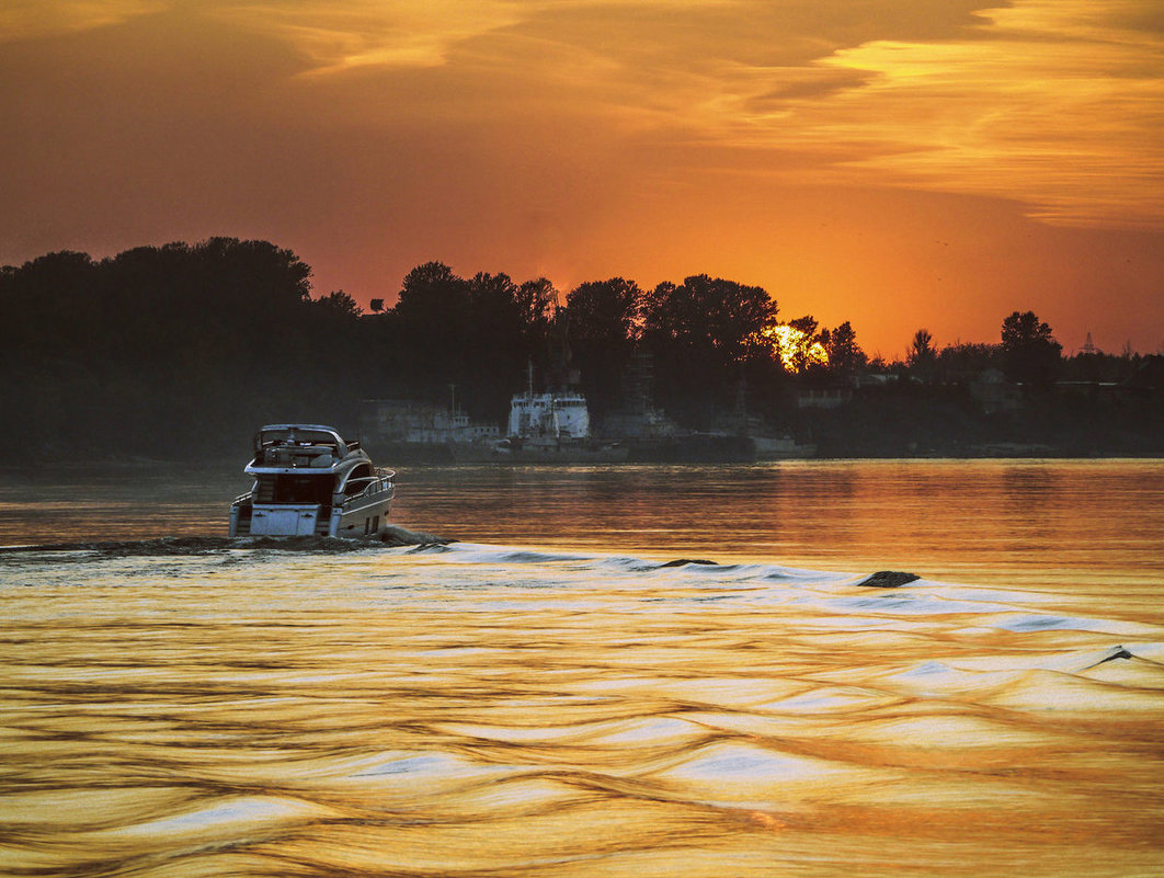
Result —
<instances>
[{"instance_id":1,"label":"entire orange sunset sky with clouds above the treeline","mask_svg":"<svg viewBox=\"0 0 1164 878\"><path fill-rule=\"evenodd\" d=\"M1159 0L6 0L0 262L264 238L412 267L707 272L867 352L1164 349Z\"/></svg>"}]
</instances>

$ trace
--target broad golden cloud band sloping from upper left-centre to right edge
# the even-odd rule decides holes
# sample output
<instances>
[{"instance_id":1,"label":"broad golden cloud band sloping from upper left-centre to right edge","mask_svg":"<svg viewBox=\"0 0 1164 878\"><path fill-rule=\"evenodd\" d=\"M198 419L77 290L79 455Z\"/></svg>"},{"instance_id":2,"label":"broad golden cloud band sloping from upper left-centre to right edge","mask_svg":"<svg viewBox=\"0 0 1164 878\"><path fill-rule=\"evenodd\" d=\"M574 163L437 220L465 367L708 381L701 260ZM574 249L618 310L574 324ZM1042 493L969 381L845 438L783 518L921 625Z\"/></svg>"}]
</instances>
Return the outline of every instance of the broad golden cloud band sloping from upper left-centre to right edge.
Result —
<instances>
[{"instance_id":1,"label":"broad golden cloud band sloping from upper left-centre to right edge","mask_svg":"<svg viewBox=\"0 0 1164 878\"><path fill-rule=\"evenodd\" d=\"M757 172L760 150L768 174L797 179L1002 197L1051 222L1156 225L1156 9L1155 0L994 9L950 0L268 0L217 15L292 41L315 76L442 68L440 94L468 114L572 114L665 148L697 143L704 157L714 147L721 170L741 150L748 157L736 170ZM808 154L817 156L810 171Z\"/></svg>"}]
</instances>

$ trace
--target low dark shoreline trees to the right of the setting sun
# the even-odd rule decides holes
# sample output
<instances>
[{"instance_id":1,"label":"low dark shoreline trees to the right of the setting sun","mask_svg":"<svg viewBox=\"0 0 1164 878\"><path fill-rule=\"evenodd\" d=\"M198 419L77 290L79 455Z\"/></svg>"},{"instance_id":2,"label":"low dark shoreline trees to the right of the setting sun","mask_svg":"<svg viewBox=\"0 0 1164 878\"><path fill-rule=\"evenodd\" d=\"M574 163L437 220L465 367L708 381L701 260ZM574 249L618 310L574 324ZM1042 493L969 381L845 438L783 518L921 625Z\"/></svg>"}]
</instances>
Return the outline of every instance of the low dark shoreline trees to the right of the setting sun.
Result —
<instances>
[{"instance_id":1,"label":"low dark shoreline trees to the right of the setting sun","mask_svg":"<svg viewBox=\"0 0 1164 878\"><path fill-rule=\"evenodd\" d=\"M903 362L874 361L846 405L808 419L824 454L1164 453L1164 357L1062 351L1032 311L999 344L938 349L922 328Z\"/></svg>"}]
</instances>

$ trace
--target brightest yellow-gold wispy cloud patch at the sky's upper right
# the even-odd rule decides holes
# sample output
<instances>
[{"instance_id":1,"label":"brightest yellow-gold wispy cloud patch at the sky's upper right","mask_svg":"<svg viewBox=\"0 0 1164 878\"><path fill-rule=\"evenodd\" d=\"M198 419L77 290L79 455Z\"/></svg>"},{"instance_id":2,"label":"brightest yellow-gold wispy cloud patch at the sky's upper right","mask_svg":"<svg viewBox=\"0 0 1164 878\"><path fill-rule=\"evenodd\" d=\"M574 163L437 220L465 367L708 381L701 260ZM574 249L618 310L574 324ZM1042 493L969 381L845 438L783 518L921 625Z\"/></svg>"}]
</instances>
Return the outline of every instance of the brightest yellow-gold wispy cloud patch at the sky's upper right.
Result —
<instances>
[{"instance_id":1,"label":"brightest yellow-gold wispy cloud patch at the sky's upper right","mask_svg":"<svg viewBox=\"0 0 1164 878\"><path fill-rule=\"evenodd\" d=\"M797 136L868 155L852 171L1025 201L1066 224L1164 222L1164 40L1150 5L1036 0L979 38L879 41L822 65L868 77L795 112ZM1144 14L1144 15L1141 15Z\"/></svg>"}]
</instances>

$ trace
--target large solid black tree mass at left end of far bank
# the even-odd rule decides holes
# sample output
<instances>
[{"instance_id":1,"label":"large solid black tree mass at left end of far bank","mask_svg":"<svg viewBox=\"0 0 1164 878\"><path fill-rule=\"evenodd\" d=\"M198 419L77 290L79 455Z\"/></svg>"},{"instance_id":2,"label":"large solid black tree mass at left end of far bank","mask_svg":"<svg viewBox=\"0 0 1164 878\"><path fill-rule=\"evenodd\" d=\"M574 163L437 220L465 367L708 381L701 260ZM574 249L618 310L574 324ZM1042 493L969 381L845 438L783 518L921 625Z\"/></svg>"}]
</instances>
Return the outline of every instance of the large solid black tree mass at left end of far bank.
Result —
<instances>
[{"instance_id":1,"label":"large solid black tree mass at left end of far bank","mask_svg":"<svg viewBox=\"0 0 1164 878\"><path fill-rule=\"evenodd\" d=\"M6 267L0 418L50 455L173 456L237 449L268 418L338 416L357 318L342 296L312 302L310 275L290 250L223 238Z\"/></svg>"}]
</instances>

